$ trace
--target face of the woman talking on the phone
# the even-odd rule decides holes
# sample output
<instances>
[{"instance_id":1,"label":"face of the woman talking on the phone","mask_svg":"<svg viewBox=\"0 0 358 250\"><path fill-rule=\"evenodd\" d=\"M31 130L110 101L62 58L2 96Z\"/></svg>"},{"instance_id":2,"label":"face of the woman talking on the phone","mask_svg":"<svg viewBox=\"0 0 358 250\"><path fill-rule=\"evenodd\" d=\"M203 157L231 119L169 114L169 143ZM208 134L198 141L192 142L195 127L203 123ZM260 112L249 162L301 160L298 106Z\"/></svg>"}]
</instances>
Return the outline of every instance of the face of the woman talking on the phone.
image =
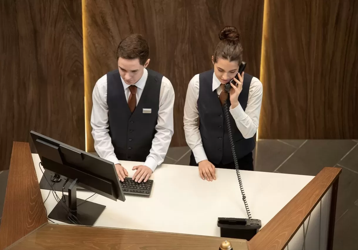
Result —
<instances>
[{"instance_id":1,"label":"face of the woman talking on the phone","mask_svg":"<svg viewBox=\"0 0 358 250\"><path fill-rule=\"evenodd\" d=\"M218 58L217 62L214 63L214 73L219 79L221 84L226 84L231 81L239 71L239 64L237 61L231 61L227 59Z\"/></svg>"}]
</instances>

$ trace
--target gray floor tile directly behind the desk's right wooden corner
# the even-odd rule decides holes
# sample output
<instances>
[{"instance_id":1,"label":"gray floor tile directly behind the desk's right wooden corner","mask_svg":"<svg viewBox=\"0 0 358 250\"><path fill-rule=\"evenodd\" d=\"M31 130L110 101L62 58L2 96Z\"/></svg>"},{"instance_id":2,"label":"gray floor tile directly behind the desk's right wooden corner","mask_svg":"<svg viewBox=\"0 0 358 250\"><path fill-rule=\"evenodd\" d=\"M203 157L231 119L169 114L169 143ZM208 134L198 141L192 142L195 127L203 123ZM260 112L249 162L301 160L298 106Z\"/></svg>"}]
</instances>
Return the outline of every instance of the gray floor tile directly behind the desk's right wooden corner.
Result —
<instances>
[{"instance_id":1,"label":"gray floor tile directly behind the desk's right wooden corner","mask_svg":"<svg viewBox=\"0 0 358 250\"><path fill-rule=\"evenodd\" d=\"M356 143L352 140L308 140L278 169L282 173L316 175L335 166Z\"/></svg>"}]
</instances>

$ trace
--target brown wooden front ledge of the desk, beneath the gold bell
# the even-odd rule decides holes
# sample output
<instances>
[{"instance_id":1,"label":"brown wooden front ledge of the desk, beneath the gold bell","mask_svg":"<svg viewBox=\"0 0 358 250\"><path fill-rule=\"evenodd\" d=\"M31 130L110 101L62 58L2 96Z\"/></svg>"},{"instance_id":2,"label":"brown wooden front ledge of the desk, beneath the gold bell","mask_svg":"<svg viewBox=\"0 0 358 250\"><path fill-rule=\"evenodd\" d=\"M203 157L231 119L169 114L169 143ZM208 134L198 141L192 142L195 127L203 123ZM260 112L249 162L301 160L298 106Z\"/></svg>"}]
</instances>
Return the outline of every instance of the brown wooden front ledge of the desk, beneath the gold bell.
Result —
<instances>
[{"instance_id":1,"label":"brown wooden front ledge of the desk, beneath the gold bell","mask_svg":"<svg viewBox=\"0 0 358 250\"><path fill-rule=\"evenodd\" d=\"M46 224L9 249L217 250L224 240L208 236ZM246 240L227 240L234 250L248 249Z\"/></svg>"}]
</instances>

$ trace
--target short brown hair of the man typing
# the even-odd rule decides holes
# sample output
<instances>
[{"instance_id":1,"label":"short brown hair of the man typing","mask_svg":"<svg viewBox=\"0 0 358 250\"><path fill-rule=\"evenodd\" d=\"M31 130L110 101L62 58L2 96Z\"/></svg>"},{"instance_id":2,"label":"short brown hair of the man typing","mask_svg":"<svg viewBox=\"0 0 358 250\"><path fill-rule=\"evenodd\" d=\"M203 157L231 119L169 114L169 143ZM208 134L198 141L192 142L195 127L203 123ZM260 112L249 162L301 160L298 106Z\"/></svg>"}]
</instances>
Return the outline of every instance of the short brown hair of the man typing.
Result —
<instances>
[{"instance_id":1,"label":"short brown hair of the man typing","mask_svg":"<svg viewBox=\"0 0 358 250\"><path fill-rule=\"evenodd\" d=\"M144 65L149 57L149 46L141 34L132 34L123 39L117 48L117 61L119 57L124 59L139 59Z\"/></svg>"}]
</instances>

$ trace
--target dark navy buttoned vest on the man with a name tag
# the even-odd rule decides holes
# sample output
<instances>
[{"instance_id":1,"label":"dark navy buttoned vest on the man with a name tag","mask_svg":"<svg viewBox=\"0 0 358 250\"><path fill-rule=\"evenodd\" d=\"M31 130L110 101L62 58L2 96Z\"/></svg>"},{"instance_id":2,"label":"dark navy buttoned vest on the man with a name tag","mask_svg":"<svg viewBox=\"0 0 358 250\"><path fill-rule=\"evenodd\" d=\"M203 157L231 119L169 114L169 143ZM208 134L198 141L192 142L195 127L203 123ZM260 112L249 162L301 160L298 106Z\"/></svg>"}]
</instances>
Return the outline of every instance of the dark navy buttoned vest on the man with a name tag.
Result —
<instances>
[{"instance_id":1,"label":"dark navy buttoned vest on the man with a name tag","mask_svg":"<svg viewBox=\"0 0 358 250\"><path fill-rule=\"evenodd\" d=\"M118 70L107 73L109 134L118 160L145 161L152 146L163 75L148 70L139 102L131 113ZM151 113L143 113L151 109Z\"/></svg>"}]
</instances>

